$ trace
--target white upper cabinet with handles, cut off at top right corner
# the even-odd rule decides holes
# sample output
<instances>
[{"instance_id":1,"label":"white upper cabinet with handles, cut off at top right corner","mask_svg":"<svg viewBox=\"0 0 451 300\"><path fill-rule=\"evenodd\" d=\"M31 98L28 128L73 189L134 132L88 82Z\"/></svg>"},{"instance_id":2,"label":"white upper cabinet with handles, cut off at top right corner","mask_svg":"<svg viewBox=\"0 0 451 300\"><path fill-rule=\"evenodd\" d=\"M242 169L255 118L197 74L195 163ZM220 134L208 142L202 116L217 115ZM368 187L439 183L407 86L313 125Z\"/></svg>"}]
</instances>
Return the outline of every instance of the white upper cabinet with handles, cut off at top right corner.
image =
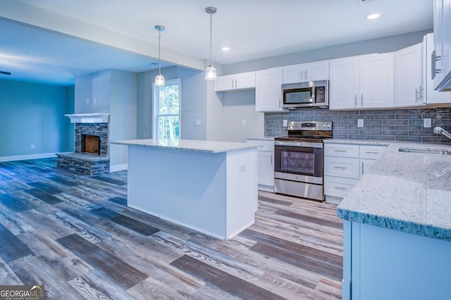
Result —
<instances>
[{"instance_id":1,"label":"white upper cabinet with handles, cut off at top right corner","mask_svg":"<svg viewBox=\"0 0 451 300\"><path fill-rule=\"evenodd\" d=\"M434 1L434 89L451 90L451 1Z\"/></svg>"}]
</instances>

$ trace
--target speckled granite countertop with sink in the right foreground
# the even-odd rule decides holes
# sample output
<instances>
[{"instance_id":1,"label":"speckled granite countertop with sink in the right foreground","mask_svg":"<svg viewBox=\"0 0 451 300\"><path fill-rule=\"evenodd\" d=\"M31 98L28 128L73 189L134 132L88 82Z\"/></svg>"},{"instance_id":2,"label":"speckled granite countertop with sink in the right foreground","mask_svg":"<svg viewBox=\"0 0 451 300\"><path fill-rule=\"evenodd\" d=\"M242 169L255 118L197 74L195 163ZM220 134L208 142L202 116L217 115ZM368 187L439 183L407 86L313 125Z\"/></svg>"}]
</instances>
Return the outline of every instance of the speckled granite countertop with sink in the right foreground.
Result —
<instances>
[{"instance_id":1,"label":"speckled granite countertop with sink in the right foreground","mask_svg":"<svg viewBox=\"0 0 451 300\"><path fill-rule=\"evenodd\" d=\"M340 218L451 242L451 155L399 151L450 144L345 141L388 146L338 205Z\"/></svg>"}]
</instances>

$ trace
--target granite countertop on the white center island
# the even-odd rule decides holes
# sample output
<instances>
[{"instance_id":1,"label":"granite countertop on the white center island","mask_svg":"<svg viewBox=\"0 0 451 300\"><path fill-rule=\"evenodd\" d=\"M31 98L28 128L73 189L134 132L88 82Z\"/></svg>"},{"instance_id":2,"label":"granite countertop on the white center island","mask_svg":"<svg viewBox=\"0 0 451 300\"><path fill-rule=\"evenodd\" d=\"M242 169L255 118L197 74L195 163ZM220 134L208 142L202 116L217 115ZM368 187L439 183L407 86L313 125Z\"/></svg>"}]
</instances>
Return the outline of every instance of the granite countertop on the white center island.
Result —
<instances>
[{"instance_id":1,"label":"granite countertop on the white center island","mask_svg":"<svg viewBox=\"0 0 451 300\"><path fill-rule=\"evenodd\" d=\"M240 142L217 142L202 139L129 139L125 141L110 142L116 145L142 146L154 149L171 149L180 151L197 151L206 153L221 153L241 149L257 148L256 144Z\"/></svg>"}]
</instances>

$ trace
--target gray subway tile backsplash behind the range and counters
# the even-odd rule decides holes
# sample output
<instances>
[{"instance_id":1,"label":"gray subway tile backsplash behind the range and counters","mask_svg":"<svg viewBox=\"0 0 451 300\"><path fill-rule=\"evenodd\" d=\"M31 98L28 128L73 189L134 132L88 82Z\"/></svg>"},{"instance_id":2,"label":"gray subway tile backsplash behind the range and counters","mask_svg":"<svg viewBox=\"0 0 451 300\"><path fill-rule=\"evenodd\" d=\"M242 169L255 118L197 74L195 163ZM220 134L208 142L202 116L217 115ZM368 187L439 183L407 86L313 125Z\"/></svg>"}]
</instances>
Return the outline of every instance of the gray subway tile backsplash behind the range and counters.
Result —
<instances>
[{"instance_id":1,"label":"gray subway tile backsplash behind the range and counters","mask_svg":"<svg viewBox=\"0 0 451 300\"><path fill-rule=\"evenodd\" d=\"M424 118L431 118L432 126L423 127ZM364 127L357 127L357 120ZM265 113L265 137L288 135L283 120L333 121L333 137L339 139L378 139L442 143L451 142L443 135L435 135L435 126L451 131L451 107L401 108L362 111L330 111L326 108L302 108L284 113Z\"/></svg>"}]
</instances>

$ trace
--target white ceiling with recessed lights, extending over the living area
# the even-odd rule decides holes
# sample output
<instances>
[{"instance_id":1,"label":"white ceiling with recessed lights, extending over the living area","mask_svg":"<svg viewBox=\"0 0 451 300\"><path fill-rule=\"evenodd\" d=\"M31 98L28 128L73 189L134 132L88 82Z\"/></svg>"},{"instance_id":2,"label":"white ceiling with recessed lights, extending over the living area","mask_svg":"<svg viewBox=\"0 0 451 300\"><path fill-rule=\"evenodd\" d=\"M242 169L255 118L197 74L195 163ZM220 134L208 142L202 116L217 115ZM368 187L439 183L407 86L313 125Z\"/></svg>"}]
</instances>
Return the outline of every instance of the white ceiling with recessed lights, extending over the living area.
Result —
<instances>
[{"instance_id":1,"label":"white ceiling with recessed lights, extending over the living area","mask_svg":"<svg viewBox=\"0 0 451 300\"><path fill-rule=\"evenodd\" d=\"M75 76L106 68L156 68L154 25L166 27L161 58L168 62L163 67L202 69L198 61L209 60L207 6L218 10L213 60L221 65L433 27L431 0L360 1L0 0L0 70L12 73L0 78L72 85ZM371 12L381 18L366 20ZM111 42L97 29L121 42ZM146 45L148 53L134 51ZM222 46L230 51L221 51Z\"/></svg>"}]
</instances>

